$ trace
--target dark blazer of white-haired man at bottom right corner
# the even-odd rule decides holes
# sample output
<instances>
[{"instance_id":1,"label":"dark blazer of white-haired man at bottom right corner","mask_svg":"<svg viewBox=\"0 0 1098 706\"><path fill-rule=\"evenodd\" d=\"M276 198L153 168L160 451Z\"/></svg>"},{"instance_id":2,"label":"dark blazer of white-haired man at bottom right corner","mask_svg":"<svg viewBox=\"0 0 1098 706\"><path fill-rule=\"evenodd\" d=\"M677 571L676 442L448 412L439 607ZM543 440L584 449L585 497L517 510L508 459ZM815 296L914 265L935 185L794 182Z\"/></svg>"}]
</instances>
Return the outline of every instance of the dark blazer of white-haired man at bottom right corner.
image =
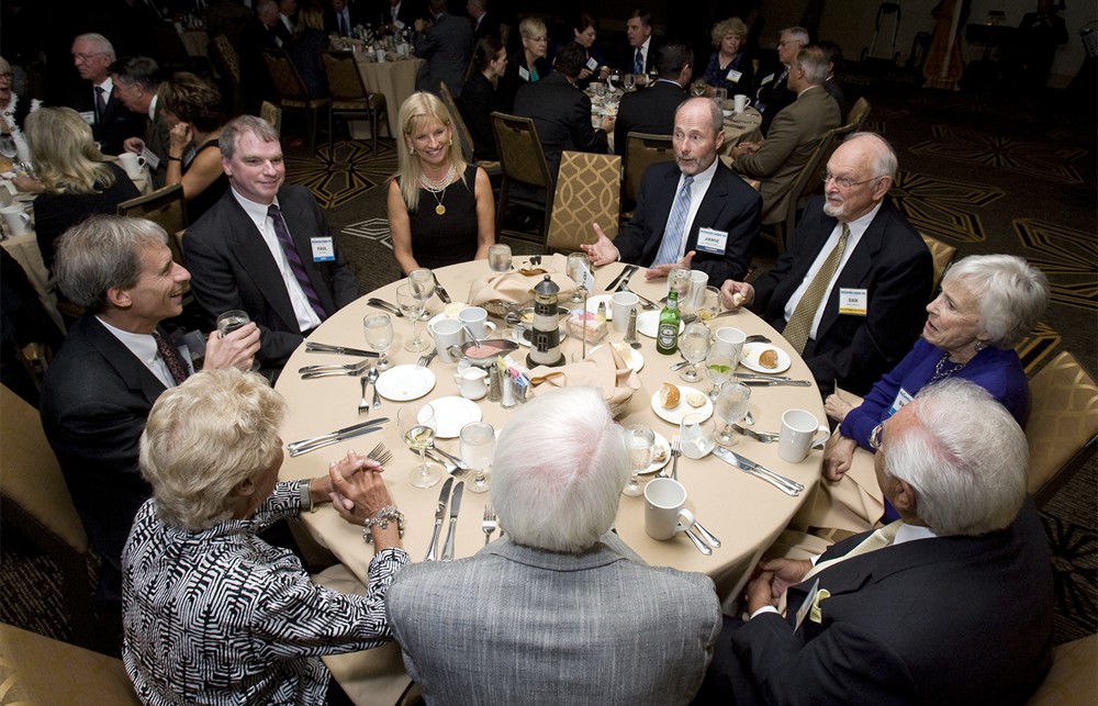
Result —
<instances>
[{"instance_id":1,"label":"dark blazer of white-haired man at bottom right corner","mask_svg":"<svg viewBox=\"0 0 1098 706\"><path fill-rule=\"evenodd\" d=\"M822 623L794 631L816 579L830 593ZM1049 546L1028 498L1006 529L853 557L792 586L787 603L788 619L725 618L696 704L1022 704L1052 662Z\"/></svg>"}]
</instances>

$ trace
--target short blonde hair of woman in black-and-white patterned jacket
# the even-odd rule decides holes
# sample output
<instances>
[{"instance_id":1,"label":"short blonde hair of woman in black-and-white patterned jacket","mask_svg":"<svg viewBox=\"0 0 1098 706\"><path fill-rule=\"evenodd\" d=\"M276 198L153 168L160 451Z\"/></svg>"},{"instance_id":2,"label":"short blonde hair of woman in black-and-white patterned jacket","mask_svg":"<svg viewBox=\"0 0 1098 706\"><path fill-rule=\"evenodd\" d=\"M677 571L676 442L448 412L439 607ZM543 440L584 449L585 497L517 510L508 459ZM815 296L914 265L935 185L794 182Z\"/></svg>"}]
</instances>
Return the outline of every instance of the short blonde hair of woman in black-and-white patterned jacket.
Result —
<instances>
[{"instance_id":1,"label":"short blonde hair of woman in black-and-white patterned jacket","mask_svg":"<svg viewBox=\"0 0 1098 706\"><path fill-rule=\"evenodd\" d=\"M141 437L141 472L160 520L202 531L231 518L234 490L278 460L285 408L266 378L235 368L164 392Z\"/></svg>"}]
</instances>

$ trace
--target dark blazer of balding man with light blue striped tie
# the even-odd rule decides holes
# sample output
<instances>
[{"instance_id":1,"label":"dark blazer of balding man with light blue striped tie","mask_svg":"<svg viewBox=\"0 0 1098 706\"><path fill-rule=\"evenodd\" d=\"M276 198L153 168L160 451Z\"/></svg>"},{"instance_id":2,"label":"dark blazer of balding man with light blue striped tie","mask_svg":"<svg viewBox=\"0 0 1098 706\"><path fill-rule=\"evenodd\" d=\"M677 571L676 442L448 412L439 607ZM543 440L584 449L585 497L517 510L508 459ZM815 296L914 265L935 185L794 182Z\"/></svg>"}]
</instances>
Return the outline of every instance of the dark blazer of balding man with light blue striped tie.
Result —
<instances>
[{"instance_id":1,"label":"dark blazer of balding man with light blue striped tie","mask_svg":"<svg viewBox=\"0 0 1098 706\"><path fill-rule=\"evenodd\" d=\"M656 259L681 176L679 165L673 161L658 163L645 170L632 220L614 240L623 262L648 267ZM695 249L698 229L704 226L728 233L725 254L696 250L691 267L708 273L709 283L714 287L719 287L727 279L743 279L751 262L754 238L759 235L761 211L759 192L718 160L705 199L691 223L684 251Z\"/></svg>"}]
</instances>

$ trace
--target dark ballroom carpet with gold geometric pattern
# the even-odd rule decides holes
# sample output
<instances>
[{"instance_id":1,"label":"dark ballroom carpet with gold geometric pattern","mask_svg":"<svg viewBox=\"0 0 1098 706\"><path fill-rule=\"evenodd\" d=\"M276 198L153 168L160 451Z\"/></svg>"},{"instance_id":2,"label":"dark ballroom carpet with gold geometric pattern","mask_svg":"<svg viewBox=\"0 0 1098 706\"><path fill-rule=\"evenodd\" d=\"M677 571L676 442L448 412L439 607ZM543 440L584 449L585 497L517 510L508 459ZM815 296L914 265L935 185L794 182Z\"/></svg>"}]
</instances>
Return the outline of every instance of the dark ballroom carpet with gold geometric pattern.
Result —
<instances>
[{"instance_id":1,"label":"dark ballroom carpet with gold geometric pattern","mask_svg":"<svg viewBox=\"0 0 1098 706\"><path fill-rule=\"evenodd\" d=\"M1054 93L1018 99L925 91L901 75L841 76L848 97L872 104L866 130L893 142L900 170L890 195L911 223L957 248L957 257L1010 253L1039 266L1052 285L1047 312L1019 351L1031 374L1071 350L1098 370L1096 130ZM385 220L395 143L323 143L315 155L287 154L288 181L310 187L327 209L362 291L400 277ZM515 251L536 248L511 242ZM775 254L761 246L760 271ZM1045 506L1042 519L1056 580L1057 643L1098 631L1098 490L1094 460ZM65 639L56 569L2 527L0 619Z\"/></svg>"}]
</instances>

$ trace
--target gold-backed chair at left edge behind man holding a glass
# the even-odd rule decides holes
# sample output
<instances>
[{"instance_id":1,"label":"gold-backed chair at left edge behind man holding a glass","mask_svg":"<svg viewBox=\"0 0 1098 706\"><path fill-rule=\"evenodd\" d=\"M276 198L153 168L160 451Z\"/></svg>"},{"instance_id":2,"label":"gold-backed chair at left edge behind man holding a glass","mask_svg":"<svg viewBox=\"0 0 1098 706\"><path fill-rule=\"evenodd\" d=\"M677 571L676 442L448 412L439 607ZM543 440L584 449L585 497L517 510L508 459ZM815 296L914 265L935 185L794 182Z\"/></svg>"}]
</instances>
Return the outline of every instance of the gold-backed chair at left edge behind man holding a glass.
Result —
<instances>
[{"instance_id":1,"label":"gold-backed chair at left edge behind man holding a glass","mask_svg":"<svg viewBox=\"0 0 1098 706\"><path fill-rule=\"evenodd\" d=\"M5 385L0 386L0 513L4 523L57 565L72 641L92 649L107 647L96 626L93 586L88 575L92 550L83 523L46 442L37 411Z\"/></svg>"}]
</instances>

